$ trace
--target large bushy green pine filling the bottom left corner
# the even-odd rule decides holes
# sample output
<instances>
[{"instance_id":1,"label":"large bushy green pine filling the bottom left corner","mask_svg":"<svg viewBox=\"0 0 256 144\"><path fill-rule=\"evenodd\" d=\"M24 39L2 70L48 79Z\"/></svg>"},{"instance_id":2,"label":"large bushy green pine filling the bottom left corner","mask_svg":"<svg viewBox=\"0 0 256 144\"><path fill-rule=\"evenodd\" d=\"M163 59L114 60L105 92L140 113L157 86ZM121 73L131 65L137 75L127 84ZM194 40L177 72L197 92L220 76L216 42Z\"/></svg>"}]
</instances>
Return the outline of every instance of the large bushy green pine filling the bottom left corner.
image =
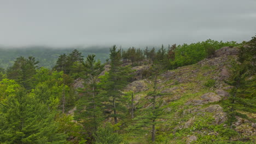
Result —
<instances>
[{"instance_id":1,"label":"large bushy green pine filling the bottom left corner","mask_svg":"<svg viewBox=\"0 0 256 144\"><path fill-rule=\"evenodd\" d=\"M63 143L54 115L34 95L20 88L8 95L0 107L0 143Z\"/></svg>"}]
</instances>

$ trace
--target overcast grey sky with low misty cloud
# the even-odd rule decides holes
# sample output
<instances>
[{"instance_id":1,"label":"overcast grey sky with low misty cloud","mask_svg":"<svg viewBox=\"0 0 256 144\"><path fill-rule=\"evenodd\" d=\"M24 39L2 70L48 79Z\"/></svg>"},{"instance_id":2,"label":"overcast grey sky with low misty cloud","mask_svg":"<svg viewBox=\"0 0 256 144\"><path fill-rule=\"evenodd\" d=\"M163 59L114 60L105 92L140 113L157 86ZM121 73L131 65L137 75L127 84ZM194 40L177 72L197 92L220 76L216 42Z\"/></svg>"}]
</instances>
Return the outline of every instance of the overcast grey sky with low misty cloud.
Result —
<instances>
[{"instance_id":1,"label":"overcast grey sky with low misty cloud","mask_svg":"<svg viewBox=\"0 0 256 144\"><path fill-rule=\"evenodd\" d=\"M0 0L4 46L241 42L255 34L255 0Z\"/></svg>"}]
</instances>

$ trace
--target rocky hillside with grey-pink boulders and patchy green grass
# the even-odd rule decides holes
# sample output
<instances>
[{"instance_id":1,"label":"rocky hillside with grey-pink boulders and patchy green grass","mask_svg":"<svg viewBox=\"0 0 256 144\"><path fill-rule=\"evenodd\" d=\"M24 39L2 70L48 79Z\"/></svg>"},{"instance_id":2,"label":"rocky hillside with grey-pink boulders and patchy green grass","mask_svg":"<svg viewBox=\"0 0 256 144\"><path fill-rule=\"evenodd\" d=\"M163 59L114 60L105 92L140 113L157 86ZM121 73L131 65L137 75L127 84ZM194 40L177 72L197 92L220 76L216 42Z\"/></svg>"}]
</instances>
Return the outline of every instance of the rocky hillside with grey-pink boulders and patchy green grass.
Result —
<instances>
[{"instance_id":1,"label":"rocky hillside with grey-pink boulders and patchy green grass","mask_svg":"<svg viewBox=\"0 0 256 144\"><path fill-rule=\"evenodd\" d=\"M230 76L231 62L236 59L236 47L223 47L216 51L213 58L166 71L160 76L157 101L161 101L163 113L156 128L157 143L205 143L209 140L213 143L225 143L225 140L255 142L255 121L236 117L237 121L231 126L235 131L226 124L228 116L222 101L230 96L232 86L225 80ZM153 97L147 96L152 88L148 79L136 80L127 86L127 91L135 92L135 116L143 115L144 109L152 107L149 99ZM243 114L256 118L256 113ZM130 127L136 122L127 121L127 125ZM141 135L137 135L136 130L131 133L124 131L129 143L147 143L150 139L150 127Z\"/></svg>"}]
</instances>

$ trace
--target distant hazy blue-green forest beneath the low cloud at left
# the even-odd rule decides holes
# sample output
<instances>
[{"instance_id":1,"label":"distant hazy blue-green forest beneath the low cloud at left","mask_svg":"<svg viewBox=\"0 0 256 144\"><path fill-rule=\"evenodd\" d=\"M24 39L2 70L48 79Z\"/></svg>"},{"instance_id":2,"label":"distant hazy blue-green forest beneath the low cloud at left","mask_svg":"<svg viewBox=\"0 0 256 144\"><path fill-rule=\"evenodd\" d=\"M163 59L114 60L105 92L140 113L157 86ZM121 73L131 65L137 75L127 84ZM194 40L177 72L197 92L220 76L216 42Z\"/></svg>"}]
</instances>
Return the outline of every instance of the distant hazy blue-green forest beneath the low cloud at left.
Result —
<instances>
[{"instance_id":1,"label":"distant hazy blue-green forest beneath the low cloud at left","mask_svg":"<svg viewBox=\"0 0 256 144\"><path fill-rule=\"evenodd\" d=\"M26 47L4 47L0 46L0 67L8 68L14 64L17 57L29 57L36 58L38 67L53 68L58 57L63 53L69 53L74 49L79 50L83 56L96 54L97 59L105 62L109 55L108 47L49 47L49 46L26 46Z\"/></svg>"}]
</instances>

